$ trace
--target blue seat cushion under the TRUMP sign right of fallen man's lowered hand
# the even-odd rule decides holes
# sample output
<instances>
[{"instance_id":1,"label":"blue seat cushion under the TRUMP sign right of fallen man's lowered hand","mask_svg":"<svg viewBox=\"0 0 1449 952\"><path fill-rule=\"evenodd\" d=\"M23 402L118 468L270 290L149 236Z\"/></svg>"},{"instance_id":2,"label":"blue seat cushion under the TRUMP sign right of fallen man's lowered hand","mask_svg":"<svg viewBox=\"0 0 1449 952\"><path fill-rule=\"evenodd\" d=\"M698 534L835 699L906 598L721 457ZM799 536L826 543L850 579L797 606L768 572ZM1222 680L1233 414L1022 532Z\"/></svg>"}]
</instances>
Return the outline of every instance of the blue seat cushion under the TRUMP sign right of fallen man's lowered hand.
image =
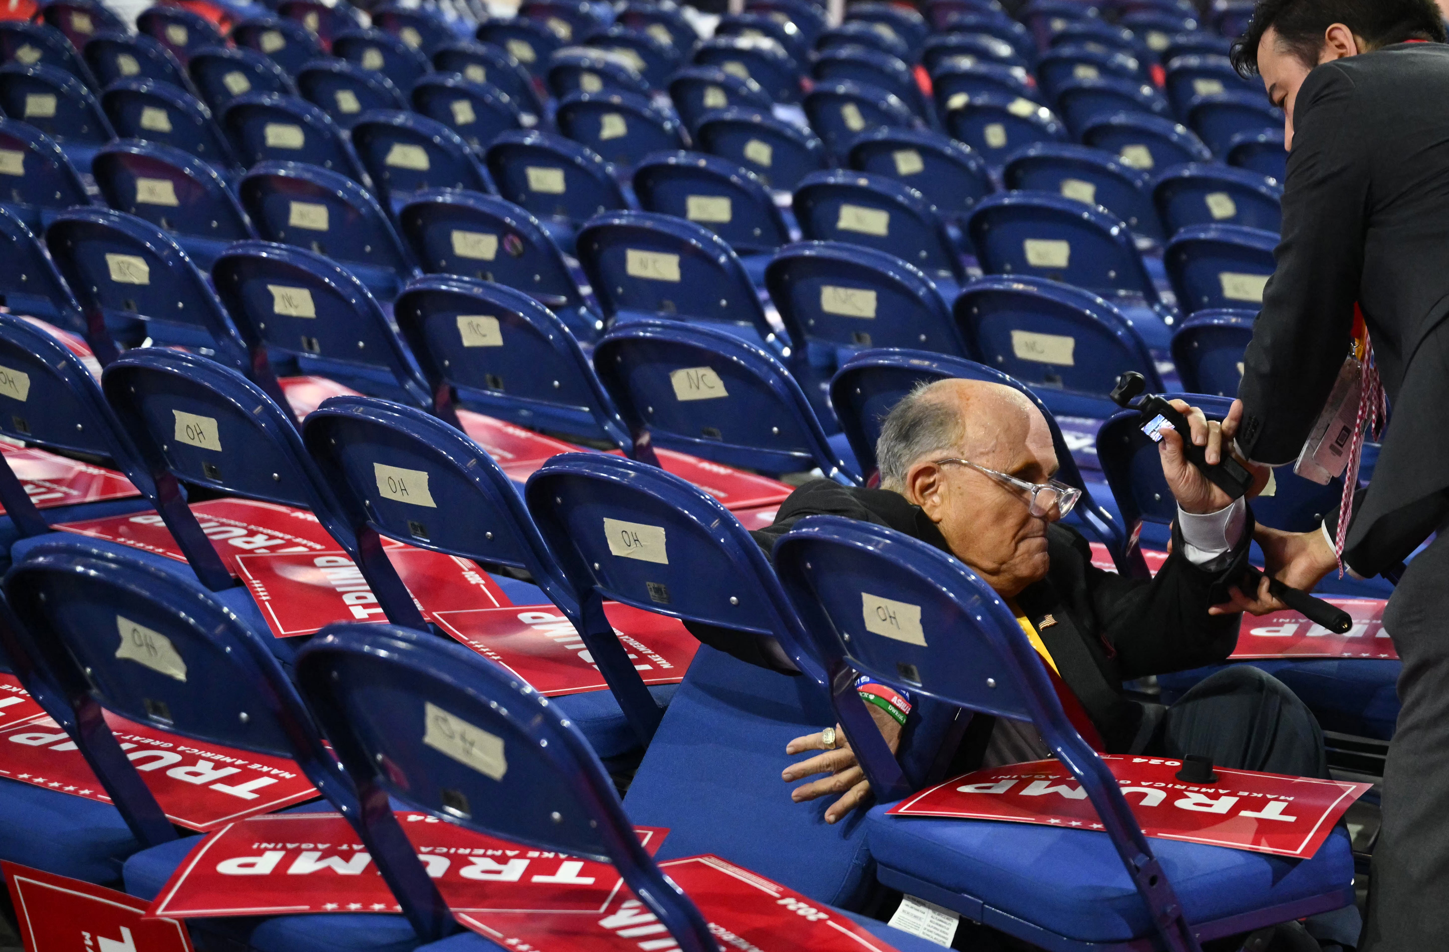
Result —
<instances>
[{"instance_id":1,"label":"blue seat cushion under the TRUMP sign right of fallen man's lowered hand","mask_svg":"<svg viewBox=\"0 0 1449 952\"><path fill-rule=\"evenodd\" d=\"M987 924L993 924L990 910L997 910L1077 942L1127 942L1153 933L1148 909L1106 833L894 817L887 809L875 807L867 819L871 855L882 872L895 869L980 900L988 907ZM1151 845L1194 924L1342 891L1353 882L1353 853L1342 827L1311 859L1169 839Z\"/></svg>"}]
</instances>

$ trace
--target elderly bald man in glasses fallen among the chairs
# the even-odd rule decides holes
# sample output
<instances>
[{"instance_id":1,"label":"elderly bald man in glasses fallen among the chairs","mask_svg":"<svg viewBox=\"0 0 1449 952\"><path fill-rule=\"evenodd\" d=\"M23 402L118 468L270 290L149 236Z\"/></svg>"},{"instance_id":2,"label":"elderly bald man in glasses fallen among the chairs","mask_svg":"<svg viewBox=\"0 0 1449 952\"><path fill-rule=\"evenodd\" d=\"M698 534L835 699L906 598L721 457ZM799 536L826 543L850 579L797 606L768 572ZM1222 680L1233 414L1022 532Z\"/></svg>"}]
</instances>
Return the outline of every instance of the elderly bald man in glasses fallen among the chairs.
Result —
<instances>
[{"instance_id":1,"label":"elderly bald man in glasses fallen among the chairs","mask_svg":"<svg viewBox=\"0 0 1449 952\"><path fill-rule=\"evenodd\" d=\"M1185 403L1178 409L1191 420L1193 442L1217 462L1232 445L1236 417L1220 426ZM1226 668L1171 707L1124 694L1126 680L1222 664L1237 642L1237 609L1214 606L1211 593L1248 558L1250 514L1184 459L1178 433L1166 432L1159 452L1178 520L1172 555L1151 581L1091 564L1087 540L1058 522L1077 494L1053 480L1058 462L1046 419L1019 391L980 381L938 381L891 410L877 443L881 488L807 483L772 526L753 535L768 554L798 519L835 514L951 552L1016 610L1068 716L1104 752L1203 753L1223 767L1327 777L1313 714L1256 668ZM1259 475L1256 488L1266 481L1266 472ZM894 746L910 701L864 681L861 697ZM790 782L830 774L793 793L797 801L843 794L827 809L829 823L869 797L843 733L832 733L791 742L788 753L826 752L784 771ZM978 714L952 767L966 772L1049 756L1030 725Z\"/></svg>"}]
</instances>

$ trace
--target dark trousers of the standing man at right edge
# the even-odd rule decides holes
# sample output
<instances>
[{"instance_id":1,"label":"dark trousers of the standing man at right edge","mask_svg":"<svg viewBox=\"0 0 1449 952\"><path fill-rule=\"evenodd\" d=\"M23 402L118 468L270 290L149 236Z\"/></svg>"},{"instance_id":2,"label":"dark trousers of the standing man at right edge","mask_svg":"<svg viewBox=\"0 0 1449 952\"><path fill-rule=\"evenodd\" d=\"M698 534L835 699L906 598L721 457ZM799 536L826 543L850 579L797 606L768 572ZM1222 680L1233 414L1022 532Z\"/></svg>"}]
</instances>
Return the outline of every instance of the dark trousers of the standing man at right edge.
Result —
<instances>
[{"instance_id":1,"label":"dark trousers of the standing man at right edge","mask_svg":"<svg viewBox=\"0 0 1449 952\"><path fill-rule=\"evenodd\" d=\"M1449 532L1410 564L1384 613L1404 661L1403 706L1384 769L1384 826L1374 848L1361 948L1420 952L1449 945Z\"/></svg>"}]
</instances>

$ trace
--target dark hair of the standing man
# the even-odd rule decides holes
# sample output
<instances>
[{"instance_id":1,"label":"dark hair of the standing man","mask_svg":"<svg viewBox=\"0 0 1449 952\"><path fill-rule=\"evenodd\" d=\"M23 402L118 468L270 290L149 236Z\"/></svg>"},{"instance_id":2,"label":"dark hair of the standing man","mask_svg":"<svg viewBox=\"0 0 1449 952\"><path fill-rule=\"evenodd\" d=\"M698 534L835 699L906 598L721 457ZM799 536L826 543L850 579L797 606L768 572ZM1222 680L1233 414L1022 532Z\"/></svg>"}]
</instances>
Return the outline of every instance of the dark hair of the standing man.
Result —
<instances>
[{"instance_id":1,"label":"dark hair of the standing man","mask_svg":"<svg viewBox=\"0 0 1449 952\"><path fill-rule=\"evenodd\" d=\"M1258 45L1274 28L1279 46L1311 70L1335 23L1364 41L1361 52L1406 39L1445 42L1443 14L1433 0L1258 0L1248 32L1233 43L1233 67L1245 77L1258 75Z\"/></svg>"}]
</instances>

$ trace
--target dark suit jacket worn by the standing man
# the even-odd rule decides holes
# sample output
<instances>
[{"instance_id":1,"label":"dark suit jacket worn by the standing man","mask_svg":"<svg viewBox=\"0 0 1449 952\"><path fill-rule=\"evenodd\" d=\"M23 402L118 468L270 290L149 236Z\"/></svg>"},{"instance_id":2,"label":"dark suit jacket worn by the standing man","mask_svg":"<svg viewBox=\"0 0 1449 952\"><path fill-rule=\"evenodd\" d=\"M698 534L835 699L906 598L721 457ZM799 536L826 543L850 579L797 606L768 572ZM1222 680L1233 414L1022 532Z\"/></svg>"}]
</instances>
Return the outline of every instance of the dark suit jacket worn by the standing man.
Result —
<instances>
[{"instance_id":1,"label":"dark suit jacket worn by the standing man","mask_svg":"<svg viewBox=\"0 0 1449 952\"><path fill-rule=\"evenodd\" d=\"M1372 575L1449 514L1449 46L1398 43L1308 74L1294 109L1278 270L1239 396L1243 452L1297 458L1364 309L1394 419L1349 526Z\"/></svg>"}]
</instances>

